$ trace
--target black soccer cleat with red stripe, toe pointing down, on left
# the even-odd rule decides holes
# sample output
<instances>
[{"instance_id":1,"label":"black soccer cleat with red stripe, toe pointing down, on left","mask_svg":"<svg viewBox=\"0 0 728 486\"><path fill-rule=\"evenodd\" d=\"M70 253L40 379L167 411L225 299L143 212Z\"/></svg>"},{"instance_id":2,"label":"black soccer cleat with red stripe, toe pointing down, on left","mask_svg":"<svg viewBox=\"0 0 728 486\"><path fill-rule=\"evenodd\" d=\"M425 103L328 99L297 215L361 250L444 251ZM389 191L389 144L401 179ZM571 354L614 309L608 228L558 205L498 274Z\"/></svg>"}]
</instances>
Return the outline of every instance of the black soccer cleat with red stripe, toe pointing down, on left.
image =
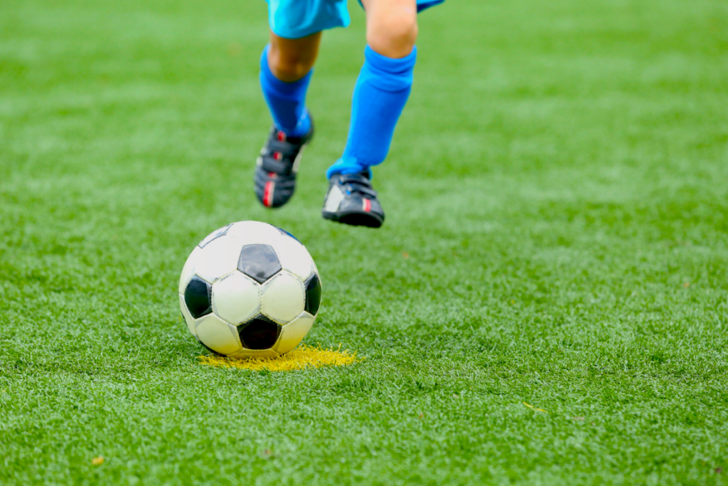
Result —
<instances>
[{"instance_id":1,"label":"black soccer cleat with red stripe, toe pointing down, on left","mask_svg":"<svg viewBox=\"0 0 728 486\"><path fill-rule=\"evenodd\" d=\"M286 136L281 130L271 128L266 144L256 162L256 173L253 181L256 185L256 196L266 208L280 208L288 203L296 190L296 173L298 162L304 146L314 136L314 125L302 137Z\"/></svg>"}]
</instances>

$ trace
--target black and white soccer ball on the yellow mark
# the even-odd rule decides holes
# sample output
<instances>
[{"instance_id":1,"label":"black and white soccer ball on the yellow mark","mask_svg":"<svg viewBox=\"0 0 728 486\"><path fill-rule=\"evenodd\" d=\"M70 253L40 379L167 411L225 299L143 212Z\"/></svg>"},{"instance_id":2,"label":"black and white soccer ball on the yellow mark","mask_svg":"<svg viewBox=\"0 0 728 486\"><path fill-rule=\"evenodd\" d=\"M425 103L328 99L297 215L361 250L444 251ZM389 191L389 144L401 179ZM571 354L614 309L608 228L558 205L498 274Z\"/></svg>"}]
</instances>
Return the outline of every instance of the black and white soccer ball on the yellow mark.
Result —
<instances>
[{"instance_id":1,"label":"black and white soccer ball on the yellow mark","mask_svg":"<svg viewBox=\"0 0 728 486\"><path fill-rule=\"evenodd\" d=\"M309 333L321 279L293 235L244 221L211 232L194 248L179 297L189 332L208 350L232 358L274 357Z\"/></svg>"}]
</instances>

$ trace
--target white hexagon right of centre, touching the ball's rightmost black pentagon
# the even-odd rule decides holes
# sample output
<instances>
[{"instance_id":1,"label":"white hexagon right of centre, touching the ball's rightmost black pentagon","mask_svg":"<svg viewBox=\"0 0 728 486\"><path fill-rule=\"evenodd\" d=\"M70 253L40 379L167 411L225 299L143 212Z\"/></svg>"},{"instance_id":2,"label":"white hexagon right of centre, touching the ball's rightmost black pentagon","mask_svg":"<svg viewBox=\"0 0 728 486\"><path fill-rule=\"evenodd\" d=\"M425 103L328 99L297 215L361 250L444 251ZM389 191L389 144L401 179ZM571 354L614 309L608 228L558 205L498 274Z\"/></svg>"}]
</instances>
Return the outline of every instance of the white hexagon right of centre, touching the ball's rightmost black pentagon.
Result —
<instances>
[{"instance_id":1,"label":"white hexagon right of centre, touching the ball's rightmost black pentagon","mask_svg":"<svg viewBox=\"0 0 728 486\"><path fill-rule=\"evenodd\" d=\"M301 315L305 301L304 283L282 270L263 286L261 313L278 324L287 324Z\"/></svg>"}]
</instances>

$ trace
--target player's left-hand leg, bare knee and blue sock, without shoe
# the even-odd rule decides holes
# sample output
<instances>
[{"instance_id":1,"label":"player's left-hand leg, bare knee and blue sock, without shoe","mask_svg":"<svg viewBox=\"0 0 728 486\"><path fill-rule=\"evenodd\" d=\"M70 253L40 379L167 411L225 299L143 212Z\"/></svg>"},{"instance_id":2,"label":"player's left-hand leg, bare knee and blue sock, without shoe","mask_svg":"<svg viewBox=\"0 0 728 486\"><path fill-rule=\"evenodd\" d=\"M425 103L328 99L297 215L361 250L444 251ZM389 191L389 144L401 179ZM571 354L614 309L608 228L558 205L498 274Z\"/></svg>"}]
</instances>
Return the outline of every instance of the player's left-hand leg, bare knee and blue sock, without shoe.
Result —
<instances>
[{"instance_id":1,"label":"player's left-hand leg, bare knee and blue sock, without shoe","mask_svg":"<svg viewBox=\"0 0 728 486\"><path fill-rule=\"evenodd\" d=\"M285 39L271 32L261 57L261 87L276 127L289 137L309 133L306 90L318 55L321 33Z\"/></svg>"}]
</instances>

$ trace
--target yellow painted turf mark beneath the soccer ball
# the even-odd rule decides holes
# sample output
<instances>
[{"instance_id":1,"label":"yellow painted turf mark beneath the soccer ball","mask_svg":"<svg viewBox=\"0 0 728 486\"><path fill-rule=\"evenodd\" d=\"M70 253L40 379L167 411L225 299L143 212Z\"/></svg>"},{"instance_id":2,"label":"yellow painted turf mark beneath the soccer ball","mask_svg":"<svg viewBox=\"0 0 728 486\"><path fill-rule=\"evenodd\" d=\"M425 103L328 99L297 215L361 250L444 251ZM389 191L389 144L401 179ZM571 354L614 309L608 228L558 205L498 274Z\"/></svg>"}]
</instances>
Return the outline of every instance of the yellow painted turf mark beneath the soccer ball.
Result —
<instances>
[{"instance_id":1,"label":"yellow painted turf mark beneath the soccer ball","mask_svg":"<svg viewBox=\"0 0 728 486\"><path fill-rule=\"evenodd\" d=\"M277 358L234 359L225 356L199 356L198 359L200 363L211 367L252 369L254 371L266 369L272 372L287 372L308 367L340 367L362 361L364 358L358 358L356 352L352 353L348 349L342 351L341 347L335 350L321 347L313 348L304 344Z\"/></svg>"}]
</instances>

